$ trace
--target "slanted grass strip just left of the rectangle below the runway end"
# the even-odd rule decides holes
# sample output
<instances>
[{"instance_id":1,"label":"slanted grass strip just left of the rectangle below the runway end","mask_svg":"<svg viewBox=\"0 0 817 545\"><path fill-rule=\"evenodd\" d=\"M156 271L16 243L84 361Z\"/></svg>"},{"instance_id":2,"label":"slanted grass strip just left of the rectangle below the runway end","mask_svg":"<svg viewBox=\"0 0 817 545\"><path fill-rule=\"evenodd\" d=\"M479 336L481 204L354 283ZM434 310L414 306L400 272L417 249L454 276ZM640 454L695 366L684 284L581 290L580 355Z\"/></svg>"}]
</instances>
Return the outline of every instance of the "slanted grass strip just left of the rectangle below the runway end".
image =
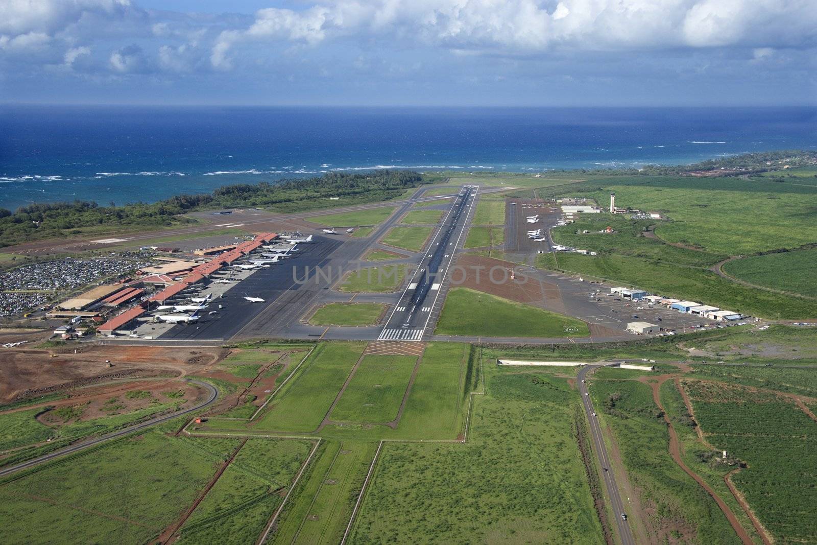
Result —
<instances>
[{"instance_id":1,"label":"slanted grass strip just left of the rectangle below the runway end","mask_svg":"<svg viewBox=\"0 0 817 545\"><path fill-rule=\"evenodd\" d=\"M267 405L255 425L261 430L313 431L341 390L364 350L364 342L332 342L315 347L296 375Z\"/></svg>"}]
</instances>

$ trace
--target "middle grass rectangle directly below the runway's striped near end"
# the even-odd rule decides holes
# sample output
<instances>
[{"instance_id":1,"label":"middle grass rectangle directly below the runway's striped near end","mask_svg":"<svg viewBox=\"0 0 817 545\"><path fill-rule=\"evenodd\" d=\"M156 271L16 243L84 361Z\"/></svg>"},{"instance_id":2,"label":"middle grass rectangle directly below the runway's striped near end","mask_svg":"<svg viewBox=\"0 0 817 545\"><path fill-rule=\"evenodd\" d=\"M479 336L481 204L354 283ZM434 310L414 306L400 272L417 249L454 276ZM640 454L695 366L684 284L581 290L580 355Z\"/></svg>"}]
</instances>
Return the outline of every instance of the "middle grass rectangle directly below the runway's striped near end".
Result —
<instances>
[{"instance_id":1,"label":"middle grass rectangle directly below the runway's striped near end","mask_svg":"<svg viewBox=\"0 0 817 545\"><path fill-rule=\"evenodd\" d=\"M416 362L414 356L365 356L329 418L337 422L391 422L397 418Z\"/></svg>"}]
</instances>

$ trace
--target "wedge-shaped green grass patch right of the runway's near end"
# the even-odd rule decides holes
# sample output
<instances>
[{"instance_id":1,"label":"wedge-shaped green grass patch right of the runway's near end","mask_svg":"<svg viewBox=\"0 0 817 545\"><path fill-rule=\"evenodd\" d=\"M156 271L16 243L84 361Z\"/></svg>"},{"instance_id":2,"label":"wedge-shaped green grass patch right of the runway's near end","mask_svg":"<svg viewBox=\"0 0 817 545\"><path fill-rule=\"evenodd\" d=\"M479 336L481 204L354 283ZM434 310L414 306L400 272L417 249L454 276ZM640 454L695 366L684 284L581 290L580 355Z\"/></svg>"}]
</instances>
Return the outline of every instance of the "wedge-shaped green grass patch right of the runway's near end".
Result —
<instances>
[{"instance_id":1,"label":"wedge-shaped green grass patch right of the runway's near end","mask_svg":"<svg viewBox=\"0 0 817 545\"><path fill-rule=\"evenodd\" d=\"M580 319L508 301L468 288L452 288L445 298L437 335L468 337L586 337Z\"/></svg>"}]
</instances>

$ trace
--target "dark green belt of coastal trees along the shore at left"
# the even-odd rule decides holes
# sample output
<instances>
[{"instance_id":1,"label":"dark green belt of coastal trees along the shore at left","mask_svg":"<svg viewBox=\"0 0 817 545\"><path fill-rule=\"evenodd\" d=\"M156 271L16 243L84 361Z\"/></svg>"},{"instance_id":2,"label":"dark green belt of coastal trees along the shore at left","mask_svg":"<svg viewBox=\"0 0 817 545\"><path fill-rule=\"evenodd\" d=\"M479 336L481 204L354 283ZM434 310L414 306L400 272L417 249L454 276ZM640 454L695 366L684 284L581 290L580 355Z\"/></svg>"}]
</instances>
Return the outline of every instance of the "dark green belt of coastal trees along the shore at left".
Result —
<instances>
[{"instance_id":1,"label":"dark green belt of coastal trees along the shore at left","mask_svg":"<svg viewBox=\"0 0 817 545\"><path fill-rule=\"evenodd\" d=\"M403 195L424 183L408 171L365 174L331 172L324 176L292 179L270 184L225 185L212 194L177 195L158 203L135 203L101 207L96 203L30 204L12 213L0 208L0 245L27 240L64 238L83 227L146 230L193 222L180 214L200 208L269 206L276 212L301 212L333 206L374 203ZM337 201L329 197L341 197Z\"/></svg>"}]
</instances>

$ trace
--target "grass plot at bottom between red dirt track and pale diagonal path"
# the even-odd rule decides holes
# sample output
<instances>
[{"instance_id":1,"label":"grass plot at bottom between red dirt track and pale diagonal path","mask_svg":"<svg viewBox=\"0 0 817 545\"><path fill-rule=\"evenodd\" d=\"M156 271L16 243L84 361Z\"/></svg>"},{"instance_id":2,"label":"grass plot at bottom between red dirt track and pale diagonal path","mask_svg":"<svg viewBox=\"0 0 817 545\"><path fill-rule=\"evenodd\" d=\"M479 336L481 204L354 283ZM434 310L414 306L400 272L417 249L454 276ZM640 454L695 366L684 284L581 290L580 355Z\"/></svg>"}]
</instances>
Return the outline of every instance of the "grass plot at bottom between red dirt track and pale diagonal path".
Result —
<instances>
[{"instance_id":1,"label":"grass plot at bottom between red dirt track and pale diagonal path","mask_svg":"<svg viewBox=\"0 0 817 545\"><path fill-rule=\"evenodd\" d=\"M182 526L177 543L252 543L311 446L309 441L248 440Z\"/></svg>"}]
</instances>

